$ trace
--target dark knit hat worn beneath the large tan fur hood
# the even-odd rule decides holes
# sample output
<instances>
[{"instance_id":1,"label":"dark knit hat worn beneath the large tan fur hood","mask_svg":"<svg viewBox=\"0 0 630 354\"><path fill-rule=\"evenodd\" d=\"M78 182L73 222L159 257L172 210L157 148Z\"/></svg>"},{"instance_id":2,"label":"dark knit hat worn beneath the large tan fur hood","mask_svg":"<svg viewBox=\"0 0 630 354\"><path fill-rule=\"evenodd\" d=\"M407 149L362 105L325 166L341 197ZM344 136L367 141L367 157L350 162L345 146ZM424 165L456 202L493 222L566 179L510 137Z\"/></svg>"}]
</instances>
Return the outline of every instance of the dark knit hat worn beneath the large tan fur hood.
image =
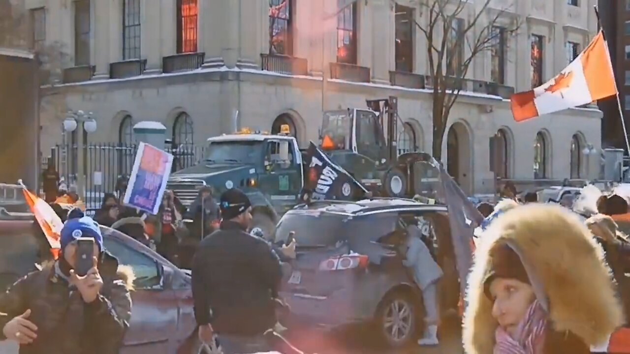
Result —
<instances>
[{"instance_id":1,"label":"dark knit hat worn beneath the large tan fur hood","mask_svg":"<svg viewBox=\"0 0 630 354\"><path fill-rule=\"evenodd\" d=\"M483 281L483 291L488 299L492 299L490 284L496 278L511 278L523 283L530 283L529 276L520 257L507 244L500 244L491 251L490 265L488 265Z\"/></svg>"}]
</instances>

